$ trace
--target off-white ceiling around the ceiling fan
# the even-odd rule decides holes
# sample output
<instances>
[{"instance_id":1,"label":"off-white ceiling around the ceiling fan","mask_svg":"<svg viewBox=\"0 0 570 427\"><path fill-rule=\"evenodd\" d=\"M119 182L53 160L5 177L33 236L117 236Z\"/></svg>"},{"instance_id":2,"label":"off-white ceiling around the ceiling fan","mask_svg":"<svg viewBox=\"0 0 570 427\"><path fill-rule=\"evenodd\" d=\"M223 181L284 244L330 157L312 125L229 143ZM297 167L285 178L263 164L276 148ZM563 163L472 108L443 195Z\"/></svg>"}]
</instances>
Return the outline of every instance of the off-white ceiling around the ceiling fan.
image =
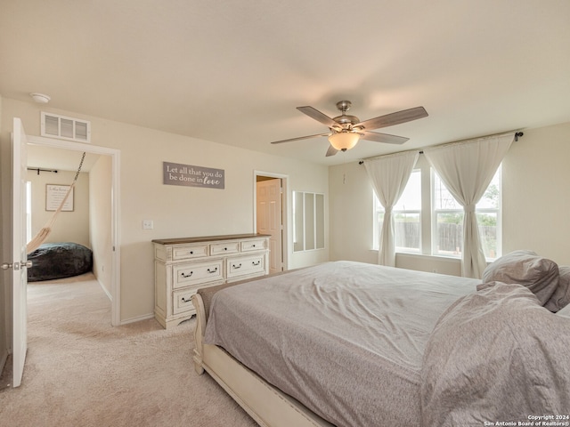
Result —
<instances>
[{"instance_id":1,"label":"off-white ceiling around the ceiling fan","mask_svg":"<svg viewBox=\"0 0 570 427\"><path fill-rule=\"evenodd\" d=\"M570 121L567 0L0 0L0 94L334 165ZM297 111L429 117L325 158ZM96 129L93 130L96 132Z\"/></svg>"}]
</instances>

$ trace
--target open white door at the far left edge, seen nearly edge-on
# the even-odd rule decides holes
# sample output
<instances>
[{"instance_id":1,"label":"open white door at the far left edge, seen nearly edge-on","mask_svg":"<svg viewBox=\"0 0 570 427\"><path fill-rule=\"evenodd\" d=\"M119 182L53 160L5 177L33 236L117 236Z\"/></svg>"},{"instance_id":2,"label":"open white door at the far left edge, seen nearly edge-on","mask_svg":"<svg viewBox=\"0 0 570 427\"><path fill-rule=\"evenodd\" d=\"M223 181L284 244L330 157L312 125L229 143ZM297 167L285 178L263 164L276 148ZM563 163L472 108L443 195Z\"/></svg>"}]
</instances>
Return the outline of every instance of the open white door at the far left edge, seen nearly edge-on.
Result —
<instances>
[{"instance_id":1,"label":"open white door at the far left edge, seen nearly edge-on","mask_svg":"<svg viewBox=\"0 0 570 427\"><path fill-rule=\"evenodd\" d=\"M18 387L28 350L28 271L26 251L26 169L28 141L19 118L12 133L12 359L13 386Z\"/></svg>"}]
</instances>

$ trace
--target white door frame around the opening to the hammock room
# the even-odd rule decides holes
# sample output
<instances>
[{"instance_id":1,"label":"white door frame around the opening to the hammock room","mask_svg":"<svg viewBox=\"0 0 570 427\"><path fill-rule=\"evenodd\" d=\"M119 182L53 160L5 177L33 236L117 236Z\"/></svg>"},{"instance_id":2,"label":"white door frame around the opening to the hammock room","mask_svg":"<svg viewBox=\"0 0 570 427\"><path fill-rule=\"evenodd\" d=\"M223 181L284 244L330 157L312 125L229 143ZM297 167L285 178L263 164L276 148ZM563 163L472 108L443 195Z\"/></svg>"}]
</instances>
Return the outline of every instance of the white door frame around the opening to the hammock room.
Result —
<instances>
[{"instance_id":1,"label":"white door frame around the opening to the hammock room","mask_svg":"<svg viewBox=\"0 0 570 427\"><path fill-rule=\"evenodd\" d=\"M112 246L112 273L110 283L111 299L111 325L118 326L121 323L120 316L120 150L101 147L98 145L85 144L82 142L63 141L43 136L28 136L28 144L35 144L55 149L70 149L85 151L87 153L100 154L111 157L111 246Z\"/></svg>"}]
</instances>

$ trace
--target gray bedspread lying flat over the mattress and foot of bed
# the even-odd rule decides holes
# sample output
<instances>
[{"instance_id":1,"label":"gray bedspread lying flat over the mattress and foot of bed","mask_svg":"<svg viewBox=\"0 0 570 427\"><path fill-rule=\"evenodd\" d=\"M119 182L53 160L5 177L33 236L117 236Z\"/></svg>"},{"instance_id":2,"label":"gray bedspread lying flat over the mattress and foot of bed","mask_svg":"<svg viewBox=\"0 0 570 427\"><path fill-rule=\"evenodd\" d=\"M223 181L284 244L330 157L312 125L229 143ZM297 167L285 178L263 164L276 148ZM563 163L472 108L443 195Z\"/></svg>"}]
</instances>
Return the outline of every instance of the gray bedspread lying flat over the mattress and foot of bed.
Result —
<instances>
[{"instance_id":1,"label":"gray bedspread lying flat over the mattress and foot of bed","mask_svg":"<svg viewBox=\"0 0 570 427\"><path fill-rule=\"evenodd\" d=\"M338 426L419 426L437 319L475 279L329 262L217 292L205 342Z\"/></svg>"}]
</instances>

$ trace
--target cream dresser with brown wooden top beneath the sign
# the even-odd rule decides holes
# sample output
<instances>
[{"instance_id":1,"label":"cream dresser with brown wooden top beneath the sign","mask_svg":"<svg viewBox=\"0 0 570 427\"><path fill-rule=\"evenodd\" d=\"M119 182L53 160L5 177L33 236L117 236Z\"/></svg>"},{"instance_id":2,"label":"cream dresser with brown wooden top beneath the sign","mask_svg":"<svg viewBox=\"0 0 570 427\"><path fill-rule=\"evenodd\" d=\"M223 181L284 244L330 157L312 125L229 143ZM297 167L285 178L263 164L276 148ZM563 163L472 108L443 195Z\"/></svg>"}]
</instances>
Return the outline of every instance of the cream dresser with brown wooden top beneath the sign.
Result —
<instances>
[{"instance_id":1,"label":"cream dresser with brown wooden top beneath the sign","mask_svg":"<svg viewBox=\"0 0 570 427\"><path fill-rule=\"evenodd\" d=\"M269 273L269 236L236 234L152 240L154 317L165 328L195 314L200 287Z\"/></svg>"}]
</instances>

